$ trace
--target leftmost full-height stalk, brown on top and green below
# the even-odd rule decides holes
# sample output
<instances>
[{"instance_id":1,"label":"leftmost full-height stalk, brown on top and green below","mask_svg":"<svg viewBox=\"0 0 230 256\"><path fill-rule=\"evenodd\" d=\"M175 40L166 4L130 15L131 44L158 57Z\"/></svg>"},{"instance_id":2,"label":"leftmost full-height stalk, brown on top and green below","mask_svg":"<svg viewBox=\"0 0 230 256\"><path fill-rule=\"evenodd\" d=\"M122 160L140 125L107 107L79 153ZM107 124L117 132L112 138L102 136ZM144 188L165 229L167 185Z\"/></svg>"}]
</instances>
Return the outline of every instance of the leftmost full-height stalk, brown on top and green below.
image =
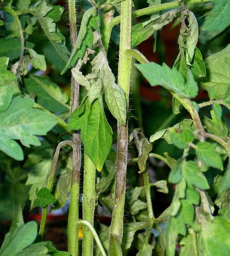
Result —
<instances>
[{"instance_id":1,"label":"leftmost full-height stalk, brown on top and green below","mask_svg":"<svg viewBox=\"0 0 230 256\"><path fill-rule=\"evenodd\" d=\"M68 0L70 17L70 39L72 50L77 40L77 22L75 0ZM79 106L79 84L71 79L70 115ZM68 248L71 256L78 256L78 226L79 220L79 186L80 186L80 133L73 132L73 142L76 145L73 149L73 172L70 189L70 210L68 216Z\"/></svg>"}]
</instances>

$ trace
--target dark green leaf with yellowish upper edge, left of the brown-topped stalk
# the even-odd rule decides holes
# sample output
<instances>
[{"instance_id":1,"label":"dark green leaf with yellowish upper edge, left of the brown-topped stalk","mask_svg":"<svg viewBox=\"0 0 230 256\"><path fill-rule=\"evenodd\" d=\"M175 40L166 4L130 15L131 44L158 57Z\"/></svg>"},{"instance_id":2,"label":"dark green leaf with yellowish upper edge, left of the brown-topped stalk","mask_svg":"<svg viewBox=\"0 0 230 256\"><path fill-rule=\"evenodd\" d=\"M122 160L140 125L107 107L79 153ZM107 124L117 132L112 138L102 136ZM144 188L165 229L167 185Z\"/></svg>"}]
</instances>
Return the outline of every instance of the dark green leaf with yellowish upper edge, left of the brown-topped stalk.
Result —
<instances>
[{"instance_id":1,"label":"dark green leaf with yellowish upper edge, left of the brown-topped stalk","mask_svg":"<svg viewBox=\"0 0 230 256\"><path fill-rule=\"evenodd\" d=\"M69 111L68 96L47 76L29 76L24 79L25 90L35 94L37 103L51 112Z\"/></svg>"}]
</instances>

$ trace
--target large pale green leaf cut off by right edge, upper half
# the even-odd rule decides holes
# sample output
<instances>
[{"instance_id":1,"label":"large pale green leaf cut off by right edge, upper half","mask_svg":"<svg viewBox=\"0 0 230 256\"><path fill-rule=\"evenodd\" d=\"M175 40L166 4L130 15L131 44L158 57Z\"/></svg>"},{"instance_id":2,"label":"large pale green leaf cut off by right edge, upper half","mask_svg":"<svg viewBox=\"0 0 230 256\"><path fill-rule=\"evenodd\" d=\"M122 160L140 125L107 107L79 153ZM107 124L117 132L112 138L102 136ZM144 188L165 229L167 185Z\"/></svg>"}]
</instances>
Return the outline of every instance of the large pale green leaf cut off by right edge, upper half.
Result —
<instances>
[{"instance_id":1,"label":"large pale green leaf cut off by right edge, upper half","mask_svg":"<svg viewBox=\"0 0 230 256\"><path fill-rule=\"evenodd\" d=\"M224 99L227 96L227 90L230 85L230 44L205 59L206 78L201 81L204 89L209 90L212 87L217 100Z\"/></svg>"}]
</instances>

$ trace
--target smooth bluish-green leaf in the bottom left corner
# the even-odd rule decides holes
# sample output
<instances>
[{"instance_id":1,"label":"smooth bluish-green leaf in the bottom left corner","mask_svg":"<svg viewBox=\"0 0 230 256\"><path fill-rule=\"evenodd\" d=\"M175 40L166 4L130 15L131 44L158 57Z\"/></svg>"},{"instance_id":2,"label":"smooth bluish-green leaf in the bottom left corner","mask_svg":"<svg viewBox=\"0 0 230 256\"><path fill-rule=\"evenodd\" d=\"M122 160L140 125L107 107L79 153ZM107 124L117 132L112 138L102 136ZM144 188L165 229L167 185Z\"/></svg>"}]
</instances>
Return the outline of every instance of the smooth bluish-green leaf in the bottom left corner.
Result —
<instances>
[{"instance_id":1,"label":"smooth bluish-green leaf in the bottom left corner","mask_svg":"<svg viewBox=\"0 0 230 256\"><path fill-rule=\"evenodd\" d=\"M37 236L37 224L30 221L21 225L14 232L7 233L0 249L1 256L17 256L31 245ZM12 250L13 249L13 250Z\"/></svg>"}]
</instances>

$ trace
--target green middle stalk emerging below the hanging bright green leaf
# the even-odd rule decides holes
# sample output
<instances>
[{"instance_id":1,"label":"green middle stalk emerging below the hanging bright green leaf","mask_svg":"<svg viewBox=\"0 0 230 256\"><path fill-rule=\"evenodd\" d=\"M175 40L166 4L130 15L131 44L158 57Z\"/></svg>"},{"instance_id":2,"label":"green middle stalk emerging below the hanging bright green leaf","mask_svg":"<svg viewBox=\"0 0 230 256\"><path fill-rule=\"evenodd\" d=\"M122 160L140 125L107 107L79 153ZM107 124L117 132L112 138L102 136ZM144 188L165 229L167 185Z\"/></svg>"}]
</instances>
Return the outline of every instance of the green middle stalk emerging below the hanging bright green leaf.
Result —
<instances>
[{"instance_id":1,"label":"green middle stalk emerging below the hanging bright green leaf","mask_svg":"<svg viewBox=\"0 0 230 256\"><path fill-rule=\"evenodd\" d=\"M96 168L84 152L83 220L94 226ZM82 255L93 256L94 237L88 227L83 227Z\"/></svg>"}]
</instances>

